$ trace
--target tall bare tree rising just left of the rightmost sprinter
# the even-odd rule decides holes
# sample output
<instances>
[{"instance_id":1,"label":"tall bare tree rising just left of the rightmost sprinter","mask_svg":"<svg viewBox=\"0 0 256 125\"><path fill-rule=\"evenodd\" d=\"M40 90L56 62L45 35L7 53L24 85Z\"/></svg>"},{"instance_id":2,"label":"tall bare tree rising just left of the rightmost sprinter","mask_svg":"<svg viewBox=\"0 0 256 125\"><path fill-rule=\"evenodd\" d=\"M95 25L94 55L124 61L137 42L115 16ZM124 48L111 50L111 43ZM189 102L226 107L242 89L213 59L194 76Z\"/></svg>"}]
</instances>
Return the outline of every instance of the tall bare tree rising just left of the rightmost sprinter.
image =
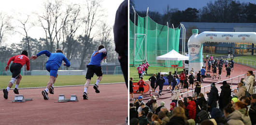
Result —
<instances>
[{"instance_id":1,"label":"tall bare tree rising just left of the rightmost sprinter","mask_svg":"<svg viewBox=\"0 0 256 125\"><path fill-rule=\"evenodd\" d=\"M84 48L82 50L82 60L79 69L83 69L83 63L89 47L88 45L91 44L90 42L92 42L93 39L92 29L96 26L97 22L100 21L100 16L103 16L100 10L100 0L86 0L85 6L86 10L83 17L85 31L84 35L80 36L80 38L83 39L81 42Z\"/></svg>"}]
</instances>

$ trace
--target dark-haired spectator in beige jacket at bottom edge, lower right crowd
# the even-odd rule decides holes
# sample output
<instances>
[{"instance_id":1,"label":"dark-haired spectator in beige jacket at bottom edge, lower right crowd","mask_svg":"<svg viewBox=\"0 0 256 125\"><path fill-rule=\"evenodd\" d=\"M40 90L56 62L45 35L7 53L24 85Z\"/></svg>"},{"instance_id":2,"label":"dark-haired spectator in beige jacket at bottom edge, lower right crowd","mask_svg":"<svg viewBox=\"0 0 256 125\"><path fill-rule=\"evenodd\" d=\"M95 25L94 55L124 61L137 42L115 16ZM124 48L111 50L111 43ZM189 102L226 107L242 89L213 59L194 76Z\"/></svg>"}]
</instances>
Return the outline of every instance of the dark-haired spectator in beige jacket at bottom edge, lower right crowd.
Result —
<instances>
[{"instance_id":1,"label":"dark-haired spectator in beige jacket at bottom edge, lower right crowd","mask_svg":"<svg viewBox=\"0 0 256 125\"><path fill-rule=\"evenodd\" d=\"M244 125L241 118L242 113L234 110L233 104L229 103L224 109L223 113L225 118L227 119L228 125Z\"/></svg>"}]
</instances>

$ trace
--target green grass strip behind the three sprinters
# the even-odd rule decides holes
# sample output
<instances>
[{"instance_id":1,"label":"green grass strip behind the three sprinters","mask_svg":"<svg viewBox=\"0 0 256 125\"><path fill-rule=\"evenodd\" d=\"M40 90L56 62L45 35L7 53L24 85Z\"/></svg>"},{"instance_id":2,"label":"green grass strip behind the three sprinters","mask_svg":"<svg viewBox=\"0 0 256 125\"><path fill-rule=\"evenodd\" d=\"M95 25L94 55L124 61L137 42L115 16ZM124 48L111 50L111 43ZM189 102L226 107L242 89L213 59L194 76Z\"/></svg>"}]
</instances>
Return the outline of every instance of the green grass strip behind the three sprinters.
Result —
<instances>
[{"instance_id":1,"label":"green grass strip behind the three sprinters","mask_svg":"<svg viewBox=\"0 0 256 125\"><path fill-rule=\"evenodd\" d=\"M11 75L0 75L0 89L6 88L11 80ZM91 84L95 84L97 75L91 79ZM23 75L19 88L22 87L46 87L49 75ZM84 85L85 75L58 75L54 86ZM103 75L102 83L121 83L125 82L123 75ZM15 87L15 84L12 88Z\"/></svg>"}]
</instances>

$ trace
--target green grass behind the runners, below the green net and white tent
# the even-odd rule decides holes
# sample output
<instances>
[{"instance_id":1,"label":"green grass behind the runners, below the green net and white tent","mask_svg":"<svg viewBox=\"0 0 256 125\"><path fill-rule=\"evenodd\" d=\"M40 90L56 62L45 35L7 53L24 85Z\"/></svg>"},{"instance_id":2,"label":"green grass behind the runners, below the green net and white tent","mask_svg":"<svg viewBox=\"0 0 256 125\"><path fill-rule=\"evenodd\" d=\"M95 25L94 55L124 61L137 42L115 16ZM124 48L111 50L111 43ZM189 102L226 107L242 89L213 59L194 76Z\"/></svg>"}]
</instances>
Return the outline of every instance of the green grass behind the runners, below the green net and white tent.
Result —
<instances>
[{"instance_id":1,"label":"green grass behind the runners, below the green net and white tent","mask_svg":"<svg viewBox=\"0 0 256 125\"><path fill-rule=\"evenodd\" d=\"M137 71L137 67L129 67L129 68L130 68L129 77L133 77L132 82L138 82L140 79L139 79L139 74L138 74L138 71ZM178 69L178 74L180 74L182 72L182 70L183 69ZM157 67L157 71L156 71L156 67L148 67L148 71L147 71L148 75L144 75L143 79L148 80L149 77L153 76L154 73L157 75L160 71L169 73L168 72L168 67ZM171 74L173 74L174 73L174 68L170 67L170 71L171 71Z\"/></svg>"}]
</instances>

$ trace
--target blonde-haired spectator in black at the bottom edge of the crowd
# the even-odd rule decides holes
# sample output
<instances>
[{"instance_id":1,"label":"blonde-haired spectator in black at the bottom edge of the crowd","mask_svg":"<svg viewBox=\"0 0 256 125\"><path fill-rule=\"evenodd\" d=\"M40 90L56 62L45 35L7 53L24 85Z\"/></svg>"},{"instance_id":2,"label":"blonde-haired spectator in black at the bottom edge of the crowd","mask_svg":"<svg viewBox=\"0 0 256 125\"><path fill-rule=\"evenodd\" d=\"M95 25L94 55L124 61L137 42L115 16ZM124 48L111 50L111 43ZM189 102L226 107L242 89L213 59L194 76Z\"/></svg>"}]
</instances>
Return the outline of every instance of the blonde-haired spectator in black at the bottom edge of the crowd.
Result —
<instances>
[{"instance_id":1,"label":"blonde-haired spectator in black at the bottom edge of the crowd","mask_svg":"<svg viewBox=\"0 0 256 125\"><path fill-rule=\"evenodd\" d=\"M166 125L186 125L188 122L185 116L185 110L182 107L176 107L171 112L170 122Z\"/></svg>"}]
</instances>

